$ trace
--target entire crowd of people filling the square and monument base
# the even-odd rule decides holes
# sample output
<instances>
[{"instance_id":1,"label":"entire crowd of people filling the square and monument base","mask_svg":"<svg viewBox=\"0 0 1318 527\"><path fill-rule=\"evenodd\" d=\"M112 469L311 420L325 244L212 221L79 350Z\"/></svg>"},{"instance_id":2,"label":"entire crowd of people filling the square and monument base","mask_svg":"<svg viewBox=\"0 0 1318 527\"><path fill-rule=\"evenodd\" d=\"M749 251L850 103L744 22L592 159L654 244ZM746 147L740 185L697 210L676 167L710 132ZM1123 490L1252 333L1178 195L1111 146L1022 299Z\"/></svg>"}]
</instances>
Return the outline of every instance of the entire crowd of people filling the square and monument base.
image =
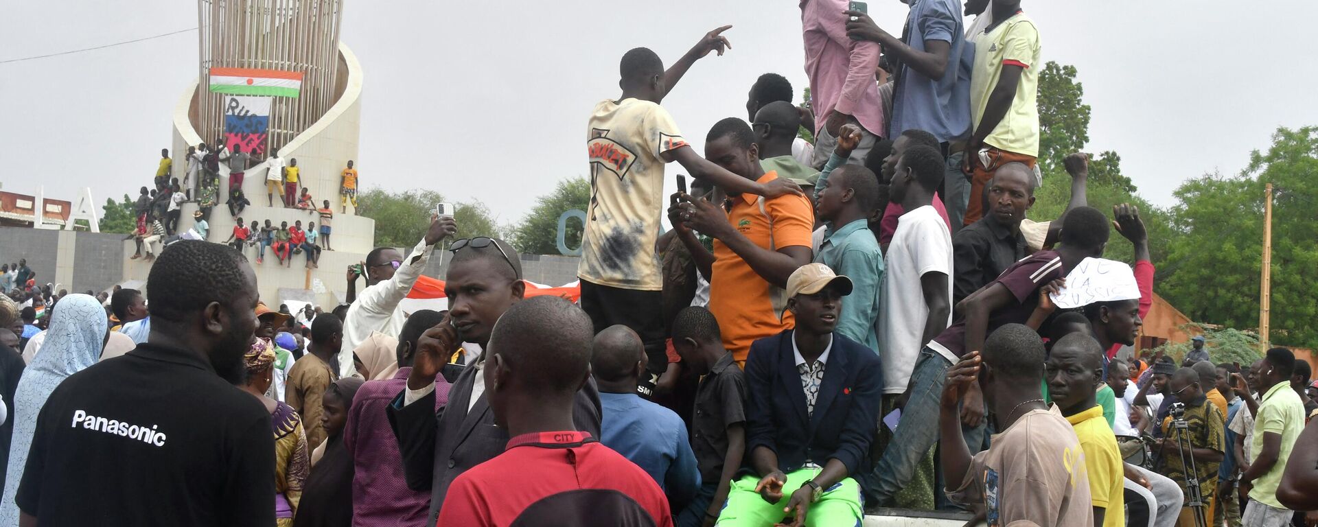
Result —
<instances>
[{"instance_id":1,"label":"entire crowd of people filling the square and monument base","mask_svg":"<svg viewBox=\"0 0 1318 527\"><path fill-rule=\"evenodd\" d=\"M969 0L966 26L952 0L909 1L900 37L854 4L801 3L808 105L764 74L702 155L662 103L729 26L667 69L622 55L621 96L589 116L576 303L529 295L510 244L432 216L409 253L349 267L347 303L272 310L244 249L315 266L315 225L236 217L204 242L203 207L199 236L157 252L156 199L179 192L163 152L138 202L145 295L51 295L20 261L26 290L0 299L0 522L1314 524L1309 364L1214 364L1203 337L1180 362L1126 358L1151 240L1135 207L1087 206L1085 154L1065 212L1027 217L1040 40L1020 3ZM211 162L232 184L250 159L196 152L214 206ZM295 159L270 159L270 204L297 207ZM670 162L693 180L664 196ZM1103 258L1114 228L1133 266ZM406 312L436 250L447 310Z\"/></svg>"}]
</instances>

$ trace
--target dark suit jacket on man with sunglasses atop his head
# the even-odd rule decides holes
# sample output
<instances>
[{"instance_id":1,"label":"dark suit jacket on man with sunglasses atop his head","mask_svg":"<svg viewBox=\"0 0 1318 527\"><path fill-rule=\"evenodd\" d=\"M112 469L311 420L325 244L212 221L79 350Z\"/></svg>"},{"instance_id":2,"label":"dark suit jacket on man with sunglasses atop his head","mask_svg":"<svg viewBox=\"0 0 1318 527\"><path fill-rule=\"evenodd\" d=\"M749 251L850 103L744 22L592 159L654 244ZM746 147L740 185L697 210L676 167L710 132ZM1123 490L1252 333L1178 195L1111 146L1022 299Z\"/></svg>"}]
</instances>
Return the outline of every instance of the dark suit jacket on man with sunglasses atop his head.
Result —
<instances>
[{"instance_id":1,"label":"dark suit jacket on man with sunglasses atop his head","mask_svg":"<svg viewBox=\"0 0 1318 527\"><path fill-rule=\"evenodd\" d=\"M439 518L448 485L472 466L503 453L510 439L506 430L494 426L494 412L485 394L467 411L478 374L474 368L463 368L448 390L448 403L438 412L431 410L435 407L434 391L407 406L403 406L405 393L401 393L386 410L389 424L398 437L407 487L431 491L428 526ZM573 420L577 430L600 437L600 390L590 378L577 391Z\"/></svg>"}]
</instances>

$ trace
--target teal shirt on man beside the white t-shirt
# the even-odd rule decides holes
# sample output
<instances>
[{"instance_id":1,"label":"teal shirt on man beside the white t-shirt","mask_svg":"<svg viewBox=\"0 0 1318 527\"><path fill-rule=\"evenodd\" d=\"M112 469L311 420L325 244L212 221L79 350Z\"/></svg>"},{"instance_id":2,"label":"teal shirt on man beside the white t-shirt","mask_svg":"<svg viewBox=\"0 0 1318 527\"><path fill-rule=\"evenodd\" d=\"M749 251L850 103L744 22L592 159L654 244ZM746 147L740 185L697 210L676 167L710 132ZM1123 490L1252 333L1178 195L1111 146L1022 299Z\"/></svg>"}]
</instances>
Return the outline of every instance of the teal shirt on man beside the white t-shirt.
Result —
<instances>
[{"instance_id":1,"label":"teal shirt on man beside the white t-shirt","mask_svg":"<svg viewBox=\"0 0 1318 527\"><path fill-rule=\"evenodd\" d=\"M861 219L829 231L815 262L851 279L851 294L842 298L836 331L879 353L874 327L879 318L883 253L869 224Z\"/></svg>"}]
</instances>

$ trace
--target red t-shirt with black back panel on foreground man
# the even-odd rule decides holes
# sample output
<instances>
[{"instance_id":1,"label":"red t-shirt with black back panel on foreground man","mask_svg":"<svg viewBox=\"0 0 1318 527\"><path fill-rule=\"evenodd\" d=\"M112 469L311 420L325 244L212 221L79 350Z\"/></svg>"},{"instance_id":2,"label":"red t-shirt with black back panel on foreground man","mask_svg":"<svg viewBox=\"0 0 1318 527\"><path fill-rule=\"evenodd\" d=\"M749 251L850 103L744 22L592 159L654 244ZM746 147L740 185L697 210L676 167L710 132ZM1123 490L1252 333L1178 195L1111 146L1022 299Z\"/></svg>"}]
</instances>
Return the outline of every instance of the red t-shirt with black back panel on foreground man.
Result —
<instances>
[{"instance_id":1,"label":"red t-shirt with black back panel on foreground man","mask_svg":"<svg viewBox=\"0 0 1318 527\"><path fill-rule=\"evenodd\" d=\"M668 498L588 432L525 433L448 487L438 526L671 527Z\"/></svg>"}]
</instances>

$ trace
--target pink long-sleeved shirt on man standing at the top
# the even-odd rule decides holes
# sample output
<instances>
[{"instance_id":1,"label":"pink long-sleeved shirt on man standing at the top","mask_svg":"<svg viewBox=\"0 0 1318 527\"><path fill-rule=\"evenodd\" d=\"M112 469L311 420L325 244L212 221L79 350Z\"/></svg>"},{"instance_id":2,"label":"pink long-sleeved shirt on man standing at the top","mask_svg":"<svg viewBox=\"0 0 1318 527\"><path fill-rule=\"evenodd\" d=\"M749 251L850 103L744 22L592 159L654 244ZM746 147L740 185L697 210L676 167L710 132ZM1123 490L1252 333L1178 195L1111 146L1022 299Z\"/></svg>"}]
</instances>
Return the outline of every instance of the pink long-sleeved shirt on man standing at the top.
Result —
<instances>
[{"instance_id":1,"label":"pink long-sleeved shirt on man standing at the top","mask_svg":"<svg viewBox=\"0 0 1318 527\"><path fill-rule=\"evenodd\" d=\"M801 0L800 4L816 129L822 129L829 113L837 109L855 117L870 133L882 136L886 121L874 82L879 45L847 38L847 17L842 14L847 5L846 0Z\"/></svg>"}]
</instances>

